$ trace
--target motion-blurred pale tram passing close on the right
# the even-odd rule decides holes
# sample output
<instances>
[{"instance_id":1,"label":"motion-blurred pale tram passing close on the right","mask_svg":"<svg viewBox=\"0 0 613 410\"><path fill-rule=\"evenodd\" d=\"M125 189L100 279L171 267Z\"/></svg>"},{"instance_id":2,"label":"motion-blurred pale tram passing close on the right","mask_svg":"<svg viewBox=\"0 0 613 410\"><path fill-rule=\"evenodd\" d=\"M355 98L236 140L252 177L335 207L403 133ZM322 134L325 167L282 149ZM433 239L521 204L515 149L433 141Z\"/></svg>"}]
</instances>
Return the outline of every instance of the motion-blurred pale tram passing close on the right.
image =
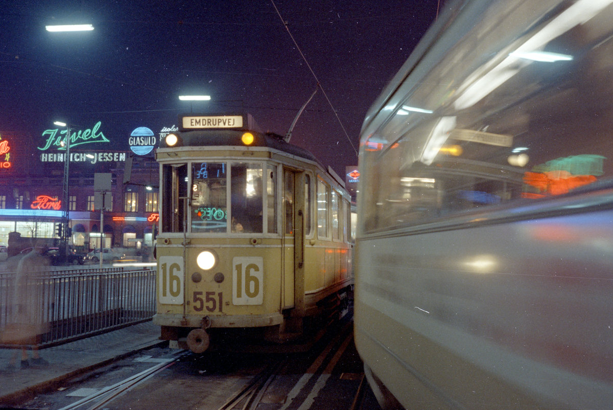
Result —
<instances>
[{"instance_id":1,"label":"motion-blurred pale tram passing close on the right","mask_svg":"<svg viewBox=\"0 0 613 410\"><path fill-rule=\"evenodd\" d=\"M360 136L386 408L613 403L613 1L451 1Z\"/></svg>"}]
</instances>

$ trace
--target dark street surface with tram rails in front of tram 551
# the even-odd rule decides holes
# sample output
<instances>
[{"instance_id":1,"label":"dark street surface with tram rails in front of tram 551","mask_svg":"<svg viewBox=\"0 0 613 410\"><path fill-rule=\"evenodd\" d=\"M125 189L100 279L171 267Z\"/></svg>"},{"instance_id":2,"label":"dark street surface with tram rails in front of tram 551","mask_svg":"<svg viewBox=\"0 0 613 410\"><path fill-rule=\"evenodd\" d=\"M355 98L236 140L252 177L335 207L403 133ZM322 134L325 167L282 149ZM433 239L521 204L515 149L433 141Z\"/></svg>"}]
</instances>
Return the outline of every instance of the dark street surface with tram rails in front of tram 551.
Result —
<instances>
[{"instance_id":1,"label":"dark street surface with tram rails in front of tram 551","mask_svg":"<svg viewBox=\"0 0 613 410\"><path fill-rule=\"evenodd\" d=\"M134 362L156 363L144 370L143 366L137 367L132 373L123 371L122 377L108 376L106 384L94 382L96 374L83 377L83 381L91 383L83 387L76 384L81 388L67 396L88 396L80 396L72 404L64 400L56 408L119 409L130 403L145 408L143 405L159 404L161 400L177 403L185 399L191 408L217 410L307 410L325 409L328 405L351 410L368 408L362 404L368 390L364 373L352 359L355 353L351 320L330 324L326 333L308 352L197 355L178 350L144 356ZM128 363L116 369L129 369ZM159 388L159 383L164 388ZM105 387L100 388L101 384ZM78 391L86 389L99 390ZM151 392L157 393L151 396Z\"/></svg>"}]
</instances>

